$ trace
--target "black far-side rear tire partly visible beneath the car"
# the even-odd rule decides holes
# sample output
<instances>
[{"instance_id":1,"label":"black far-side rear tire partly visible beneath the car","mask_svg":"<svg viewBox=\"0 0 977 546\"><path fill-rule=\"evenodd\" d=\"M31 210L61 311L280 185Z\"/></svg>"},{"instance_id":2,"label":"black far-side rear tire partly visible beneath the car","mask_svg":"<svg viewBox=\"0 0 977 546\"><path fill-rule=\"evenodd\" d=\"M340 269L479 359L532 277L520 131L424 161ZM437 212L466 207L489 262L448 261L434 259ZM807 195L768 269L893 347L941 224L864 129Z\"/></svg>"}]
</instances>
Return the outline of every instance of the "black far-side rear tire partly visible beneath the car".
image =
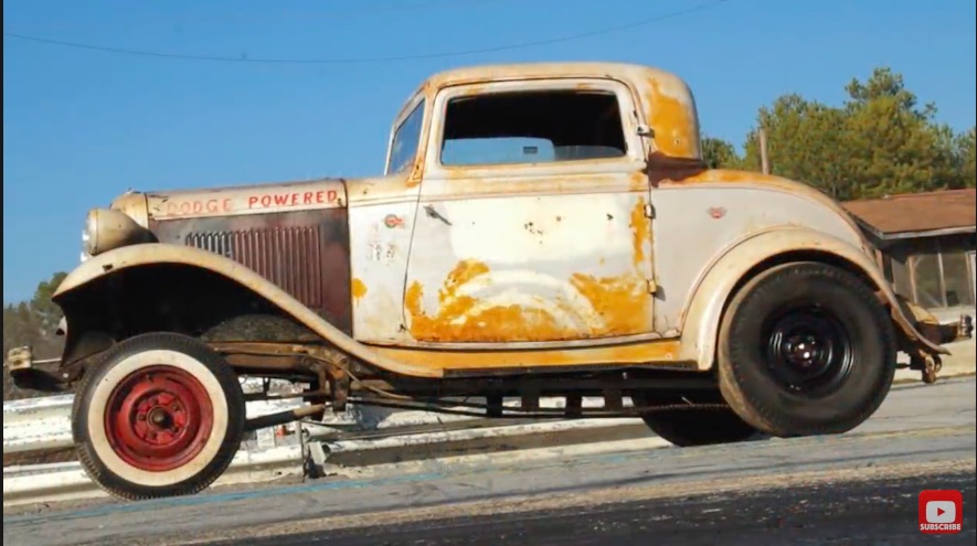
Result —
<instances>
[{"instance_id":1,"label":"black far-side rear tire partly visible beneath the car","mask_svg":"<svg viewBox=\"0 0 977 546\"><path fill-rule=\"evenodd\" d=\"M693 402L721 403L716 393L689 399L673 394L638 394L633 400L639 406L673 405ZM660 438L678 447L733 443L758 438L760 432L730 408L675 409L641 415L645 424Z\"/></svg>"}]
</instances>

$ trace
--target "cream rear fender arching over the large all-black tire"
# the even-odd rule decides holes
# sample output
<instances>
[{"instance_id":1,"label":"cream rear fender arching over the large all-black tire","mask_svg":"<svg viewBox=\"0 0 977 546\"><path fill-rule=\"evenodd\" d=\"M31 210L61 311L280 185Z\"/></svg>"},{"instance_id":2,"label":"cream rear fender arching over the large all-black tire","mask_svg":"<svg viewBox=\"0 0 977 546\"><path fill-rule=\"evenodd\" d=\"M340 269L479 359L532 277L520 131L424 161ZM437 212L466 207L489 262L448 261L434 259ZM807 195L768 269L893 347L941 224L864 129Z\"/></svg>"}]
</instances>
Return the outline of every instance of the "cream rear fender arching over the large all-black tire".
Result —
<instances>
[{"instance_id":1,"label":"cream rear fender arching over the large all-black tire","mask_svg":"<svg viewBox=\"0 0 977 546\"><path fill-rule=\"evenodd\" d=\"M789 260L790 255L797 255L799 260L810 260L810 256L845 260L872 279L878 293L888 303L896 328L912 345L924 353L949 354L920 332L885 275L859 247L810 228L779 227L740 240L708 268L683 313L682 360L698 362L701 370L710 368L715 357L723 311L741 279L765 261Z\"/></svg>"}]
</instances>

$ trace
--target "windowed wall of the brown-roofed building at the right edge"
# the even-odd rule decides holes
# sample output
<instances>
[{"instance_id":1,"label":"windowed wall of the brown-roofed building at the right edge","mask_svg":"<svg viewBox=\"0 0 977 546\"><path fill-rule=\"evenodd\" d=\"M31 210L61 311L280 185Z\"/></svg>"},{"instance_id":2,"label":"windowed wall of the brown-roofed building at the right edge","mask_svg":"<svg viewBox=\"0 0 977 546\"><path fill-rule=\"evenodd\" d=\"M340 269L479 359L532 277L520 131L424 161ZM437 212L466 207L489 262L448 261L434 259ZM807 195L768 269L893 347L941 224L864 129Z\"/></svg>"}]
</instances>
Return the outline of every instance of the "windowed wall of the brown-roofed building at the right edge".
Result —
<instances>
[{"instance_id":1,"label":"windowed wall of the brown-roofed building at the right edge","mask_svg":"<svg viewBox=\"0 0 977 546\"><path fill-rule=\"evenodd\" d=\"M974 306L974 245L923 239L890 255L895 291L926 309Z\"/></svg>"}]
</instances>

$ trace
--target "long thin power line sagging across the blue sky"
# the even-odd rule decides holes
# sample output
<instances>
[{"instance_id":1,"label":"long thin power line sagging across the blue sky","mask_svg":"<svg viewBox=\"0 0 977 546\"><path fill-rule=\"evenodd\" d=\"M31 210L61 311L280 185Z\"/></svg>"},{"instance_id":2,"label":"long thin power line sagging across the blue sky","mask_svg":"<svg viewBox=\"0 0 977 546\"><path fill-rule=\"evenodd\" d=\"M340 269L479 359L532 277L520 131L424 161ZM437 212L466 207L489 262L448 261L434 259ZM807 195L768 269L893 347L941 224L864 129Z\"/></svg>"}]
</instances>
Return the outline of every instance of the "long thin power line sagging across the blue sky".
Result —
<instances>
[{"instance_id":1,"label":"long thin power line sagging across the blue sky","mask_svg":"<svg viewBox=\"0 0 977 546\"><path fill-rule=\"evenodd\" d=\"M479 53L496 53L500 51L512 51L512 50L522 50L528 47L538 47L541 45L550 45L555 43L571 42L574 40L582 40L585 38L597 36L602 34L610 34L614 32L620 32L623 30L635 29L638 26L645 26L650 23L656 23L659 21L665 21L667 19L673 19L677 17L688 15L690 13L694 13L698 11L704 11L711 8L715 8L716 6L728 2L729 0L714 0L712 2L707 2L700 6L695 6L692 8L688 8L684 10L673 11L670 13L666 13L663 15L656 15L648 19L643 19L639 21L635 21L627 24L620 24L617 26L608 26L605 29L599 29L590 32L583 32L580 34L571 34L559 38L551 38L546 40L537 40L532 42L522 42L518 44L509 44L509 45L498 45L493 47L481 47L474 50L461 50L455 52L440 52L440 53L421 53L416 55L397 55L397 56L386 56L386 57L352 57L352 58L252 58L247 55L241 55L237 57L229 57L229 56L216 56L216 55L197 55L197 54L183 54L183 53L167 53L159 51L147 51L147 50L130 50L125 47L111 47L111 46L103 46L103 45L94 45L94 44L85 44L78 42L65 42L61 40L52 40L40 36L31 36L26 34L18 34L13 32L3 32L3 38L22 40L26 42L36 42L49 45L59 45L62 47L73 47L79 50L89 50L97 51L103 53L116 53L121 55L134 55L134 56L144 56L144 57L158 57L158 58L174 58L182 61L211 61L211 62L223 62L223 63L262 63L262 64L360 64L360 63L390 63L390 62L399 62L399 61L417 61L417 60L428 60L428 58L445 58L445 57L457 57L465 55L476 55Z\"/></svg>"}]
</instances>

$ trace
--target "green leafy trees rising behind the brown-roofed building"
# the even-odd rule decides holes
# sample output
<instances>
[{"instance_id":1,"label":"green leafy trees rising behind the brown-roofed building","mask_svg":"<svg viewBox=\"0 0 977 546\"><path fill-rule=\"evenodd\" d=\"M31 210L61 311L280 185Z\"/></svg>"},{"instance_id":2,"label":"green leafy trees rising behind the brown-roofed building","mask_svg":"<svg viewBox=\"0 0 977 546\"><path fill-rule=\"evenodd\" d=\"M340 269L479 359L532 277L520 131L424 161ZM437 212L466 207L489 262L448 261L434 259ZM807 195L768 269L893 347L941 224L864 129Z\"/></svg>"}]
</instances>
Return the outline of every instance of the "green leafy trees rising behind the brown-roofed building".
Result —
<instances>
[{"instance_id":1,"label":"green leafy trees rising behind the brown-roofed building","mask_svg":"<svg viewBox=\"0 0 977 546\"><path fill-rule=\"evenodd\" d=\"M935 122L936 107L920 107L900 74L875 68L846 90L840 107L787 94L760 109L772 173L839 200L974 185L966 167L973 132L955 136ZM760 164L756 130L747 135L744 163Z\"/></svg>"}]
</instances>

